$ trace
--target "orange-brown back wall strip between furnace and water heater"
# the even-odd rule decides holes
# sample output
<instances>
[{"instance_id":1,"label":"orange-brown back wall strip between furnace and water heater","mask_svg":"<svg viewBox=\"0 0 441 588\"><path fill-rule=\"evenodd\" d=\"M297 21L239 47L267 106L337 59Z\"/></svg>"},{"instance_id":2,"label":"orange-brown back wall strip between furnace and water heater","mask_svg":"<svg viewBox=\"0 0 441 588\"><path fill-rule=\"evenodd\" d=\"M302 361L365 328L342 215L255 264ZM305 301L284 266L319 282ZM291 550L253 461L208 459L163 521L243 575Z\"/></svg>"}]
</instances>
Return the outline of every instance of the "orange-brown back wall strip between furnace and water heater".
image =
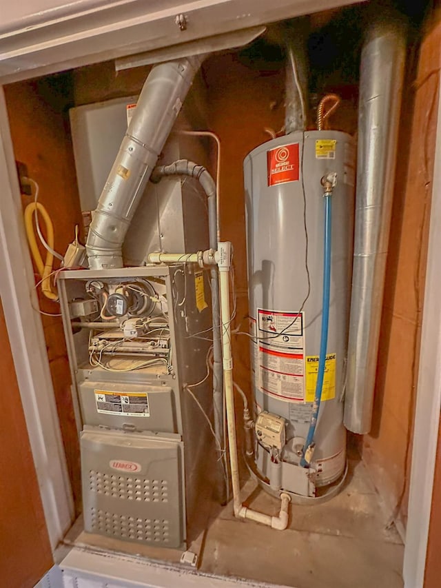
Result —
<instances>
[{"instance_id":1,"label":"orange-brown back wall strip between furnace and water heater","mask_svg":"<svg viewBox=\"0 0 441 588\"><path fill-rule=\"evenodd\" d=\"M216 56L204 65L208 87L209 124L220 138L220 238L234 246L236 318L232 329L248 332L247 258L245 247L245 192L243 160L257 145L271 139L265 128L283 125L285 73L255 69L234 54ZM234 379L250 394L249 338L233 336ZM236 402L241 418L242 407ZM240 422L240 420L239 420Z\"/></svg>"}]
</instances>

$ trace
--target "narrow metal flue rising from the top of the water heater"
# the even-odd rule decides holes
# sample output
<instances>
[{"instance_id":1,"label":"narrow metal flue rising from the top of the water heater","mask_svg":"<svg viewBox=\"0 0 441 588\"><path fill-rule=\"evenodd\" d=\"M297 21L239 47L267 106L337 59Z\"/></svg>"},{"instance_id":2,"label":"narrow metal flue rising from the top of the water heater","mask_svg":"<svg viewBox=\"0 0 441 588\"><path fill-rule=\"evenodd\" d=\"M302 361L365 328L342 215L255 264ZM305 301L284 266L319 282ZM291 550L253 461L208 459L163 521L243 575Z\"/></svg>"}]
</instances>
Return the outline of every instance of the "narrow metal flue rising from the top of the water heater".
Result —
<instances>
[{"instance_id":1,"label":"narrow metal flue rising from the top of the water heater","mask_svg":"<svg viewBox=\"0 0 441 588\"><path fill-rule=\"evenodd\" d=\"M285 32L285 134L303 131L307 126L308 25L308 19L297 19Z\"/></svg>"}]
</instances>

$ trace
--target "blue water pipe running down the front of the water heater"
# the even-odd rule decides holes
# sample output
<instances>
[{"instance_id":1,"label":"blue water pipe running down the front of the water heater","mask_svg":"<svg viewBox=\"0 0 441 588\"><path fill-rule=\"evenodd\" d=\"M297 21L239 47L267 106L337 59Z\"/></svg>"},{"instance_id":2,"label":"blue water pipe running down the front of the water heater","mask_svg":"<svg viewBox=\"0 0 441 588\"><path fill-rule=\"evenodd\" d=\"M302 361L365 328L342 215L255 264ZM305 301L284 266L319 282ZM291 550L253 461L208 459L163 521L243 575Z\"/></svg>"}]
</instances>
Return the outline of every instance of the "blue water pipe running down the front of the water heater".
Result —
<instances>
[{"instance_id":1,"label":"blue water pipe running down the front of the water heater","mask_svg":"<svg viewBox=\"0 0 441 588\"><path fill-rule=\"evenodd\" d=\"M300 465L302 467L309 467L311 458L307 458L310 454L309 449L314 447L314 436L316 434L316 426L318 419L318 411L320 409L320 402L322 400L323 378L325 377L326 352L328 343L329 330L329 298L331 294L331 194L325 194L325 245L323 255L323 300L322 300L322 330L320 334L320 355L318 356L318 374L316 383L316 394L314 396L314 405L312 407L311 421L305 445L303 447L302 457L300 458Z\"/></svg>"}]
</instances>

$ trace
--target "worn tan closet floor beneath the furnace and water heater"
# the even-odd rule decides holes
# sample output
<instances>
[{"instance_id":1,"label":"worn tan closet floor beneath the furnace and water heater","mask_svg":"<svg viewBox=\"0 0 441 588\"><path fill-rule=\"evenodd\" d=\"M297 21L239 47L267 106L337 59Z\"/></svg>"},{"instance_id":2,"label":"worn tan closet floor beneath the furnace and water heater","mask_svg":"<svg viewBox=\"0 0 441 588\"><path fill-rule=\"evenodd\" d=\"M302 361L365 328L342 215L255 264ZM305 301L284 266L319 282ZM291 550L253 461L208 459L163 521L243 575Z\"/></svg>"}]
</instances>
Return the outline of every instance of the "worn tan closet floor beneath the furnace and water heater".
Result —
<instances>
[{"instance_id":1,"label":"worn tan closet floor beneath the furnace and water heater","mask_svg":"<svg viewBox=\"0 0 441 588\"><path fill-rule=\"evenodd\" d=\"M279 503L244 480L243 501L266 514ZM209 507L209 500L201 496ZM345 487L327 503L290 506L289 528L275 531L234 518L231 503L201 513L204 529L189 550L198 554L205 574L242 578L260 586L291 588L402 588L404 545L395 527L388 528L364 463L352 454ZM83 531L82 518L72 527L65 546L116 552L179 569L181 551L135 545ZM197 572L196 572L197 573ZM207 580L207 586L210 585ZM263 584L259 584L263 582Z\"/></svg>"}]
</instances>

